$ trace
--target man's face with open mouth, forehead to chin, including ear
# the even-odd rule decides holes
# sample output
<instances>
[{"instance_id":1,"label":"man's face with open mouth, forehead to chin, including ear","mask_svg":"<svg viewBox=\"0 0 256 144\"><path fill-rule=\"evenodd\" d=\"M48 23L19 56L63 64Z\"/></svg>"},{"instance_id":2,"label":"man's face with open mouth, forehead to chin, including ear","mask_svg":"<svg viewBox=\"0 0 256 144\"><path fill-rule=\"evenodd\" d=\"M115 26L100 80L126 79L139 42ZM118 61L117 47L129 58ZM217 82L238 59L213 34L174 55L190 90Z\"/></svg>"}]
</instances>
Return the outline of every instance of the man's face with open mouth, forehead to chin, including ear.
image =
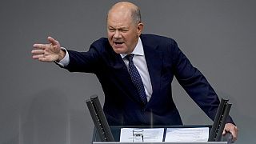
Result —
<instances>
[{"instance_id":1,"label":"man's face with open mouth, forehead to chin, including ear","mask_svg":"<svg viewBox=\"0 0 256 144\"><path fill-rule=\"evenodd\" d=\"M117 54L130 54L138 42L142 23L135 24L130 14L110 13L107 34L110 45Z\"/></svg>"}]
</instances>

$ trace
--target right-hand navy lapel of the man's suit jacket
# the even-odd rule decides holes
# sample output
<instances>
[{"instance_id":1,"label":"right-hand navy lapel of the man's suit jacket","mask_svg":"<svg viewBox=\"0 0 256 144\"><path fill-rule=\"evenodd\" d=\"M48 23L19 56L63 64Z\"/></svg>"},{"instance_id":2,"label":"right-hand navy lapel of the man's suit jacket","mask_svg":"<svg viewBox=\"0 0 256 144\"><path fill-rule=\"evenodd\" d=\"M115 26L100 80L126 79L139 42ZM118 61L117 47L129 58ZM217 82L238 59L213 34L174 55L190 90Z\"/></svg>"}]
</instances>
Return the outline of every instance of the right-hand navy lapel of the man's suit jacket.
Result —
<instances>
[{"instance_id":1,"label":"right-hand navy lapel of the man's suit jacket","mask_svg":"<svg viewBox=\"0 0 256 144\"><path fill-rule=\"evenodd\" d=\"M146 64L150 74L150 81L152 85L153 94L151 95L150 103L154 102L154 98L158 98L161 88L161 70L162 70L162 53L158 50L158 45L153 44L150 39L146 39L146 36L142 35L142 45L146 58ZM150 43L150 44L149 44Z\"/></svg>"}]
</instances>

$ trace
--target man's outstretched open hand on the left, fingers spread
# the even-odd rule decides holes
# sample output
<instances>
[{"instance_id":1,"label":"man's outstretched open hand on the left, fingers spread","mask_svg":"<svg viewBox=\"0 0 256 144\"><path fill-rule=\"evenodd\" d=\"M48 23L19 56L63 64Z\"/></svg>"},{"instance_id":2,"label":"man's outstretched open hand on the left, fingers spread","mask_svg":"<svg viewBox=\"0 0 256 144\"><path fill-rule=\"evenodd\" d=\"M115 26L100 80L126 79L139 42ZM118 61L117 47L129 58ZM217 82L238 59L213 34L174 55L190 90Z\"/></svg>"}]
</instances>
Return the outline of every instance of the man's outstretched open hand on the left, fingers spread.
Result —
<instances>
[{"instance_id":1,"label":"man's outstretched open hand on the left, fingers spread","mask_svg":"<svg viewBox=\"0 0 256 144\"><path fill-rule=\"evenodd\" d=\"M54 38L48 37L49 44L34 44L34 50L31 51L32 58L42 62L60 61L65 56L61 46Z\"/></svg>"}]
</instances>

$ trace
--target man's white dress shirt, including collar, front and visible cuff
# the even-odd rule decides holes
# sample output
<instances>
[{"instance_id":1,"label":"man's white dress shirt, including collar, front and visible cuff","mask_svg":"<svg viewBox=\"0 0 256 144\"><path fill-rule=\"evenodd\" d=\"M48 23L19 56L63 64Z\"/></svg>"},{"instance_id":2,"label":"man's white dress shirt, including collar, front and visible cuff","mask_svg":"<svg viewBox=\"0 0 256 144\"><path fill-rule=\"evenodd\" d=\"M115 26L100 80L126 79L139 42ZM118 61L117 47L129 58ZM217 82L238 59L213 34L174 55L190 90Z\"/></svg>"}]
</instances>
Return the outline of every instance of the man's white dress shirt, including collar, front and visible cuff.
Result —
<instances>
[{"instance_id":1,"label":"man's white dress shirt, including collar, front and visible cuff","mask_svg":"<svg viewBox=\"0 0 256 144\"><path fill-rule=\"evenodd\" d=\"M62 47L62 50L66 50L66 49ZM138 73L142 77L142 82L143 82L144 89L145 89L145 92L146 92L146 99L147 99L147 102L149 102L150 98L151 98L151 95L153 93L153 90L152 90L152 84L151 84L151 81L150 81L149 70L148 70L147 65L146 65L146 58L145 58L141 38L138 38L138 43L135 46L134 51L131 54L134 54L133 62L134 62L134 65L136 66L136 68L138 70ZM128 68L129 62L125 58L127 54L120 54L120 55L122 57L122 60L125 62L126 66ZM68 51L66 50L65 57L60 62L58 62L58 64L65 67L69 63L70 63L70 56L69 56Z\"/></svg>"}]
</instances>

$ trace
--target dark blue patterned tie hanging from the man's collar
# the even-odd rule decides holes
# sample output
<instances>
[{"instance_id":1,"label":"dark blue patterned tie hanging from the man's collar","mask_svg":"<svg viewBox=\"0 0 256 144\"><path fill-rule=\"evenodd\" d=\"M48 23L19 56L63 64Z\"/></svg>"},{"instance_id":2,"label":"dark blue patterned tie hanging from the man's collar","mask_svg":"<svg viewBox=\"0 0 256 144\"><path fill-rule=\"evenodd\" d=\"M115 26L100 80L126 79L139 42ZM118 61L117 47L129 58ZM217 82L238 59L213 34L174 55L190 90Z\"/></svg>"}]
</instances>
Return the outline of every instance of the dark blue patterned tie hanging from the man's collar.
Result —
<instances>
[{"instance_id":1,"label":"dark blue patterned tie hanging from the man's collar","mask_svg":"<svg viewBox=\"0 0 256 144\"><path fill-rule=\"evenodd\" d=\"M134 54L126 55L125 58L129 61L128 71L130 74L131 81L134 83L134 86L137 88L138 94L142 100L142 103L146 105L146 102L147 102L146 92L143 86L142 78L138 73L138 70L133 62Z\"/></svg>"}]
</instances>

